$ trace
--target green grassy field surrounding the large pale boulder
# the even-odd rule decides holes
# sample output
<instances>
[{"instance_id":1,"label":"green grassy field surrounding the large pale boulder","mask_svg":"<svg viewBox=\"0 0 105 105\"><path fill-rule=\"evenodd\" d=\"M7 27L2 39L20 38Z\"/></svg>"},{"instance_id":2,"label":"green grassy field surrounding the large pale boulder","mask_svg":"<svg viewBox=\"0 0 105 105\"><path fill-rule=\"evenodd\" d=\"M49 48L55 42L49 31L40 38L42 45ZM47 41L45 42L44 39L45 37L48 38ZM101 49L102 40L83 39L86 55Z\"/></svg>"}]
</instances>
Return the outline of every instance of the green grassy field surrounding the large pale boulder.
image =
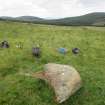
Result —
<instances>
[{"instance_id":1,"label":"green grassy field surrounding the large pale boulder","mask_svg":"<svg viewBox=\"0 0 105 105\"><path fill-rule=\"evenodd\" d=\"M0 41L5 39L10 48L0 49L0 105L58 105L47 83L19 74L41 71L49 62L74 66L83 80L83 87L61 105L105 105L105 28L0 22ZM16 48L19 42L23 49ZM31 54L36 44L42 50L39 60ZM59 54L59 47L69 52ZM80 48L77 56L74 47Z\"/></svg>"}]
</instances>

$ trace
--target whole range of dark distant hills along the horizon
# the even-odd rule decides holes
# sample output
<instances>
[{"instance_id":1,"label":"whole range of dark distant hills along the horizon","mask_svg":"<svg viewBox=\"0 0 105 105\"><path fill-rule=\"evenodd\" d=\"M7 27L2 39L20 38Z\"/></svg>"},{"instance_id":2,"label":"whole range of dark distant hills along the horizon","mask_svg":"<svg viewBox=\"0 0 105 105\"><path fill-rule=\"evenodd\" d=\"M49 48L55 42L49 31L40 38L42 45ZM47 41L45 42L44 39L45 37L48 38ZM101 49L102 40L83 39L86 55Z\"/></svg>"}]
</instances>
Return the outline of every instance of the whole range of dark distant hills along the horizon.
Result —
<instances>
[{"instance_id":1,"label":"whole range of dark distant hills along the horizon","mask_svg":"<svg viewBox=\"0 0 105 105\"><path fill-rule=\"evenodd\" d=\"M105 26L105 12L94 12L77 17L61 19L43 19L34 16L0 17L2 21L31 22L35 24L65 25L65 26Z\"/></svg>"}]
</instances>

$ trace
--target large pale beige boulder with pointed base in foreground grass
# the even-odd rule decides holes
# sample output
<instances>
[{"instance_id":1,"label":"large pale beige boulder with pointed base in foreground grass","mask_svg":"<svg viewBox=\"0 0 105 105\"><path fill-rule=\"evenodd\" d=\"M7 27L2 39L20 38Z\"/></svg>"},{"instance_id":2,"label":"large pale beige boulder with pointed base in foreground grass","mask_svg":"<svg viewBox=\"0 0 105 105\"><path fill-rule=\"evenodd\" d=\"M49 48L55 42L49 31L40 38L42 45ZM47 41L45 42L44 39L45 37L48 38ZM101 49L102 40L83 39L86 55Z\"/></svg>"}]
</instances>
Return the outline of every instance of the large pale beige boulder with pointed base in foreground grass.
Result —
<instances>
[{"instance_id":1,"label":"large pale beige boulder with pointed base in foreground grass","mask_svg":"<svg viewBox=\"0 0 105 105\"><path fill-rule=\"evenodd\" d=\"M49 63L43 72L31 76L47 81L53 87L58 103L66 101L82 86L79 73L68 65Z\"/></svg>"}]
</instances>

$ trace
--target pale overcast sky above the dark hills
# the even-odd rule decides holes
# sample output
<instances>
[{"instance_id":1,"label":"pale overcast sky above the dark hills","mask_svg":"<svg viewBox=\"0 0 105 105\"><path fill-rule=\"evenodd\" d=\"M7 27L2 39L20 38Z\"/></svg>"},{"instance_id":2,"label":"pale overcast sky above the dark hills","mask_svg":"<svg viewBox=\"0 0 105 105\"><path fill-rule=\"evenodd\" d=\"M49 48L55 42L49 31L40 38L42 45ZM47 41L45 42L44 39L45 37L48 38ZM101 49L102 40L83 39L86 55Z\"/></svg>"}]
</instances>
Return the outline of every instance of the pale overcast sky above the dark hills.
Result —
<instances>
[{"instance_id":1,"label":"pale overcast sky above the dark hills","mask_svg":"<svg viewBox=\"0 0 105 105\"><path fill-rule=\"evenodd\" d=\"M63 18L105 12L105 0L0 0L0 16Z\"/></svg>"}]
</instances>

